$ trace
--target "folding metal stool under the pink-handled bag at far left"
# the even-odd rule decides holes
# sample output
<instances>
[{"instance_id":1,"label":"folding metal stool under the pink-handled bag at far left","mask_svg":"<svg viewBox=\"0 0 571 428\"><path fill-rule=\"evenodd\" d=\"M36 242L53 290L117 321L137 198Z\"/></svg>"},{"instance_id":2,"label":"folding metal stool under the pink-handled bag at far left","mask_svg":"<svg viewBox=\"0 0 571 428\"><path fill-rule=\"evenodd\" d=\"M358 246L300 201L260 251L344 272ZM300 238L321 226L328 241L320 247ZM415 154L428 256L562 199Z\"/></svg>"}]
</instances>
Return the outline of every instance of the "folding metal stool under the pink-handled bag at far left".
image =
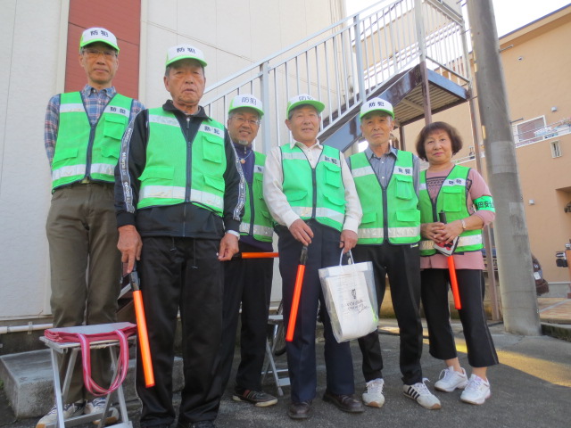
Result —
<instances>
[{"instance_id":1,"label":"folding metal stool under the pink-handled bag at far left","mask_svg":"<svg viewBox=\"0 0 571 428\"><path fill-rule=\"evenodd\" d=\"M75 327L67 327L65 328L66 332L69 333L104 333L110 330L117 330L127 325L127 323L114 323L114 324L102 324L99 325L100 329L95 328L98 325L79 325ZM62 330L62 329L60 329ZM135 342L137 336L133 335L128 338L129 342ZM54 393L55 393L55 406L57 407L57 421L55 424L48 424L46 428L64 428L68 426L75 426L79 424L86 424L88 422L95 421L100 419L101 422L98 425L99 427L103 428L105 426L105 417L103 414L107 414L107 410L109 409L110 404L110 396L111 394L107 394L105 397L105 408L103 412L92 413L90 415L80 415L70 417L69 419L63 419L63 402L67 396L68 391L70 390L70 383L71 383L71 373L73 370L73 366L75 365L76 358L78 357L78 352L81 350L81 345L75 342L54 342L46 338L46 336L42 336L39 338L40 341L44 342L46 346L51 350L51 357L52 357L52 370L54 372ZM120 346L119 340L109 340L109 341L96 341L91 342L90 349L103 349L107 348L111 354L112 359L112 370L113 372L117 371L117 355L115 352L115 347ZM63 385L60 384L60 373L58 370L58 362L57 362L57 354L64 354L66 352L71 352L69 364L65 373L65 380L63 381ZM133 424L128 420L127 414L127 405L125 404L125 395L123 394L123 385L113 392L117 392L117 398L119 400L119 407L120 407L120 424L113 424L113 428L132 428Z\"/></svg>"}]
</instances>

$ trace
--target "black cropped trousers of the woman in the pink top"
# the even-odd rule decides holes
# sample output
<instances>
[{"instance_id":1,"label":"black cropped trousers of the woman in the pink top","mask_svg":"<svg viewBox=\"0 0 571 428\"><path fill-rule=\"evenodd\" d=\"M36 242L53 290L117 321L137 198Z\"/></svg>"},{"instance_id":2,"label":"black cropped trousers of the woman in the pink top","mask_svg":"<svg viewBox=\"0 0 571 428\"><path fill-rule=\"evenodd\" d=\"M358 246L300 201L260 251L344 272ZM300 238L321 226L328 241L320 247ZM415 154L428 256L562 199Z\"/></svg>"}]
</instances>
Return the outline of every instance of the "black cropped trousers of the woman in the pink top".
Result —
<instances>
[{"instance_id":1,"label":"black cropped trousers of the woman in the pink top","mask_svg":"<svg viewBox=\"0 0 571 428\"><path fill-rule=\"evenodd\" d=\"M456 345L450 324L448 269L425 269L422 277L422 307L425 309L429 352L434 358L456 358ZM498 355L486 324L483 304L482 271L458 269L456 271L460 303L460 322L468 348L468 363L473 367L498 364Z\"/></svg>"}]
</instances>

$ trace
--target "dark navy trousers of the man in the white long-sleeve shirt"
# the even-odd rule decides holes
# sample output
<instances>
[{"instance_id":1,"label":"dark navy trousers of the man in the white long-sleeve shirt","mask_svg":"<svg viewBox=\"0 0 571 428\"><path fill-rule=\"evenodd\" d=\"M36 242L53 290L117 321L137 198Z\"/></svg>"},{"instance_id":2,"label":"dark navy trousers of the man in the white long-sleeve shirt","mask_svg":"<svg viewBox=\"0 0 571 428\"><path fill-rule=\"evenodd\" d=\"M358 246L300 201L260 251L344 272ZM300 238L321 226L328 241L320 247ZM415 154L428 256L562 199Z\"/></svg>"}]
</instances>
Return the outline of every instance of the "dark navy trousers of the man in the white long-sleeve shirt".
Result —
<instances>
[{"instance_id":1,"label":"dark navy trousers of the man in the white long-sleeve shirt","mask_svg":"<svg viewBox=\"0 0 571 428\"><path fill-rule=\"evenodd\" d=\"M319 282L319 268L339 264L341 249L340 233L327 226L310 222L314 237L308 247L308 259L303 277L302 295L294 330L294 341L285 342L287 366L291 383L291 397L294 402L314 399L317 390L315 359L315 327L318 304L325 336L325 364L327 369L327 390L334 394L352 394L355 391L352 355L349 342L335 341L331 321L325 310L325 300ZM295 276L299 265L302 243L296 241L284 228L278 231L279 271L282 276L282 299L284 301L284 323L288 325L294 298Z\"/></svg>"}]
</instances>

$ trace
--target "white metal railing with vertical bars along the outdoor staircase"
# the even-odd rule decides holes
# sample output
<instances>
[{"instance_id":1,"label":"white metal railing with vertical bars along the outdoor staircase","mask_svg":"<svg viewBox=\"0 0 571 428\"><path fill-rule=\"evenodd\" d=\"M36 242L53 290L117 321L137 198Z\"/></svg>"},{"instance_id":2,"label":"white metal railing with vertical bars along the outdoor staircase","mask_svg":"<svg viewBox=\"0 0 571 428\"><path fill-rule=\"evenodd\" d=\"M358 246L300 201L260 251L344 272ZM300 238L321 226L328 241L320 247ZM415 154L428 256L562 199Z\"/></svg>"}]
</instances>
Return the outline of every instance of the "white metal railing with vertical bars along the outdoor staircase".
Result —
<instances>
[{"instance_id":1,"label":"white metal railing with vertical bars along the outdoor staircase","mask_svg":"<svg viewBox=\"0 0 571 428\"><path fill-rule=\"evenodd\" d=\"M325 103L323 132L421 58L431 70L468 85L463 29L461 17L438 0L381 1L207 87L203 105L221 119L235 95L258 96L265 114L263 146L255 148L269 152L290 138L284 122L291 96L306 93Z\"/></svg>"}]
</instances>

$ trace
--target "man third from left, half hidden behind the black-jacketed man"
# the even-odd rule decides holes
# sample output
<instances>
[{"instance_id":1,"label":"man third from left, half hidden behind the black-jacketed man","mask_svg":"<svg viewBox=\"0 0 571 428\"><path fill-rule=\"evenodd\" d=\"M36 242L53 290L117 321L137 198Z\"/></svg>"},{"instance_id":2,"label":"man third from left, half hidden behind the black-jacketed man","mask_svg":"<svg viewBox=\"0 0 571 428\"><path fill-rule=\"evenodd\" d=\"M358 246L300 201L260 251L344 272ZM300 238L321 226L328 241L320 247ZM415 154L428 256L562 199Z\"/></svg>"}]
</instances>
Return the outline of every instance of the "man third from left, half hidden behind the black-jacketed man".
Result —
<instances>
[{"instance_id":1,"label":"man third from left, half hidden behind the black-jacketed man","mask_svg":"<svg viewBox=\"0 0 571 428\"><path fill-rule=\"evenodd\" d=\"M271 252L272 220L263 199L262 177L266 155L252 150L264 114L261 101L253 95L236 95L228 109L228 134L238 155L246 182L244 218L240 224L241 252ZM269 296L273 276L273 259L234 259L224 266L224 321L220 376L222 391L228 384L240 303L240 366L232 399L267 407L277 399L261 391L261 369L266 351Z\"/></svg>"}]
</instances>

